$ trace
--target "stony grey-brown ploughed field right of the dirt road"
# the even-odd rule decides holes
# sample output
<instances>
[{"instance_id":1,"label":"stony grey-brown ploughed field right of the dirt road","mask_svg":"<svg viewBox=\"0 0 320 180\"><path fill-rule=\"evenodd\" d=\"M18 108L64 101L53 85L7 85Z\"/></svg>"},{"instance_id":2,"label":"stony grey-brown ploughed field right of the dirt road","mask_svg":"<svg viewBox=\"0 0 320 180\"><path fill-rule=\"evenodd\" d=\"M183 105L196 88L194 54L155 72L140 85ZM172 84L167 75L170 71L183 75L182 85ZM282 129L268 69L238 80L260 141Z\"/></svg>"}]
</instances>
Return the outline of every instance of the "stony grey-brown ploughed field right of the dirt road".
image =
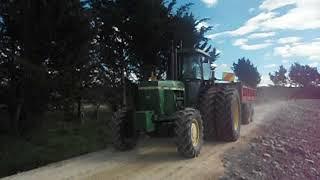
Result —
<instances>
[{"instance_id":1,"label":"stony grey-brown ploughed field right of the dirt road","mask_svg":"<svg viewBox=\"0 0 320 180\"><path fill-rule=\"evenodd\" d=\"M288 102L249 144L225 154L221 179L320 179L319 128L319 100Z\"/></svg>"}]
</instances>

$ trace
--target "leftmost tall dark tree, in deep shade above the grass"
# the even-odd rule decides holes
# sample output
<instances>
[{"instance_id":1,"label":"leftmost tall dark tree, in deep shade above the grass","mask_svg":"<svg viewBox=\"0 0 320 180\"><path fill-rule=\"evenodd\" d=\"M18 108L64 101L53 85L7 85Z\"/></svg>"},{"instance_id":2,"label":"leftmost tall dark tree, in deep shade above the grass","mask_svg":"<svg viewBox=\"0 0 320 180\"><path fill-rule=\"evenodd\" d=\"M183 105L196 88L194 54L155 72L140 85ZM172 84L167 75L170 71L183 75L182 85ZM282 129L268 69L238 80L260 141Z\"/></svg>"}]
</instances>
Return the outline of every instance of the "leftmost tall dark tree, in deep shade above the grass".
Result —
<instances>
[{"instance_id":1,"label":"leftmost tall dark tree, in deep shade above the grass","mask_svg":"<svg viewBox=\"0 0 320 180\"><path fill-rule=\"evenodd\" d=\"M18 131L21 114L41 115L50 94L65 97L65 109L79 98L80 74L88 63L89 24L76 0L4 0L0 16L10 39L5 49L12 53L3 61L11 72L12 122ZM30 119L26 124L34 126Z\"/></svg>"}]
</instances>

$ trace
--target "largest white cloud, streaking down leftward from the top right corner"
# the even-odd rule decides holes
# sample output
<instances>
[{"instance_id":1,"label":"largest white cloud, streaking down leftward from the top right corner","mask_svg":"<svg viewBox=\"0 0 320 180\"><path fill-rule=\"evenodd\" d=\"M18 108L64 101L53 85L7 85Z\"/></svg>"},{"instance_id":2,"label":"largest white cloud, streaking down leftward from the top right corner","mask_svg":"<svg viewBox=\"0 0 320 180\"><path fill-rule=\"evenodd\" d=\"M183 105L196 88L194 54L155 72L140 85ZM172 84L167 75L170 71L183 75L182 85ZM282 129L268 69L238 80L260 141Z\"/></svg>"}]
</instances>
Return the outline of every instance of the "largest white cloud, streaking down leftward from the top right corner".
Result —
<instances>
[{"instance_id":1,"label":"largest white cloud, streaking down leftward from the top right corner","mask_svg":"<svg viewBox=\"0 0 320 180\"><path fill-rule=\"evenodd\" d=\"M274 10L286 5L295 5L284 14ZM243 36L249 33L275 30L315 30L320 29L320 0L265 0L257 16L249 19L238 29L212 34Z\"/></svg>"}]
</instances>

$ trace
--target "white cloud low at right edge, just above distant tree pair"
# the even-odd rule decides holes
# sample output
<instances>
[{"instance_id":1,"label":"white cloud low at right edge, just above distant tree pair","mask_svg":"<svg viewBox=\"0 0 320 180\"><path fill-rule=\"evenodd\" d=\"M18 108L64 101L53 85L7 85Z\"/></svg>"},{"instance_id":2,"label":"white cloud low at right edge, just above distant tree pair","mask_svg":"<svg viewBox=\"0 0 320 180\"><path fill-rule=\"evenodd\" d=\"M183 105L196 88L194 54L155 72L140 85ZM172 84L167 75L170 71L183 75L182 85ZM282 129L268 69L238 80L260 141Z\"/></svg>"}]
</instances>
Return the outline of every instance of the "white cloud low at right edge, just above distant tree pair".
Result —
<instances>
[{"instance_id":1,"label":"white cloud low at right edge, just above distant tree pair","mask_svg":"<svg viewBox=\"0 0 320 180\"><path fill-rule=\"evenodd\" d=\"M320 61L320 41L286 44L274 48L274 55L284 58L305 57L309 60Z\"/></svg>"}]
</instances>

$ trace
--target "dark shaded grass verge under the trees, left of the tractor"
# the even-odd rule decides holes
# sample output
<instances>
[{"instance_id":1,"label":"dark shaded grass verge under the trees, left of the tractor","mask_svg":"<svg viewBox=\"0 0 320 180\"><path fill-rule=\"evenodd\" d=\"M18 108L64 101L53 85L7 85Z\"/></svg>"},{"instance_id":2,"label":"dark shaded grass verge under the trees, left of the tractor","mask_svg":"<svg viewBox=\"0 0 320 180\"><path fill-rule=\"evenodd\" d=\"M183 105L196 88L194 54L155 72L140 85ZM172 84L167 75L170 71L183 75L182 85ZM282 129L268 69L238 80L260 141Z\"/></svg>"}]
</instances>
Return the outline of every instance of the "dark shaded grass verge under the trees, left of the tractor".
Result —
<instances>
[{"instance_id":1,"label":"dark shaded grass verge under the trees, left of the tractor","mask_svg":"<svg viewBox=\"0 0 320 180\"><path fill-rule=\"evenodd\" d=\"M108 111L100 111L93 120L86 110L83 123L61 121L61 113L47 113L41 130L24 137L0 135L0 177L34 169L107 147Z\"/></svg>"}]
</instances>

